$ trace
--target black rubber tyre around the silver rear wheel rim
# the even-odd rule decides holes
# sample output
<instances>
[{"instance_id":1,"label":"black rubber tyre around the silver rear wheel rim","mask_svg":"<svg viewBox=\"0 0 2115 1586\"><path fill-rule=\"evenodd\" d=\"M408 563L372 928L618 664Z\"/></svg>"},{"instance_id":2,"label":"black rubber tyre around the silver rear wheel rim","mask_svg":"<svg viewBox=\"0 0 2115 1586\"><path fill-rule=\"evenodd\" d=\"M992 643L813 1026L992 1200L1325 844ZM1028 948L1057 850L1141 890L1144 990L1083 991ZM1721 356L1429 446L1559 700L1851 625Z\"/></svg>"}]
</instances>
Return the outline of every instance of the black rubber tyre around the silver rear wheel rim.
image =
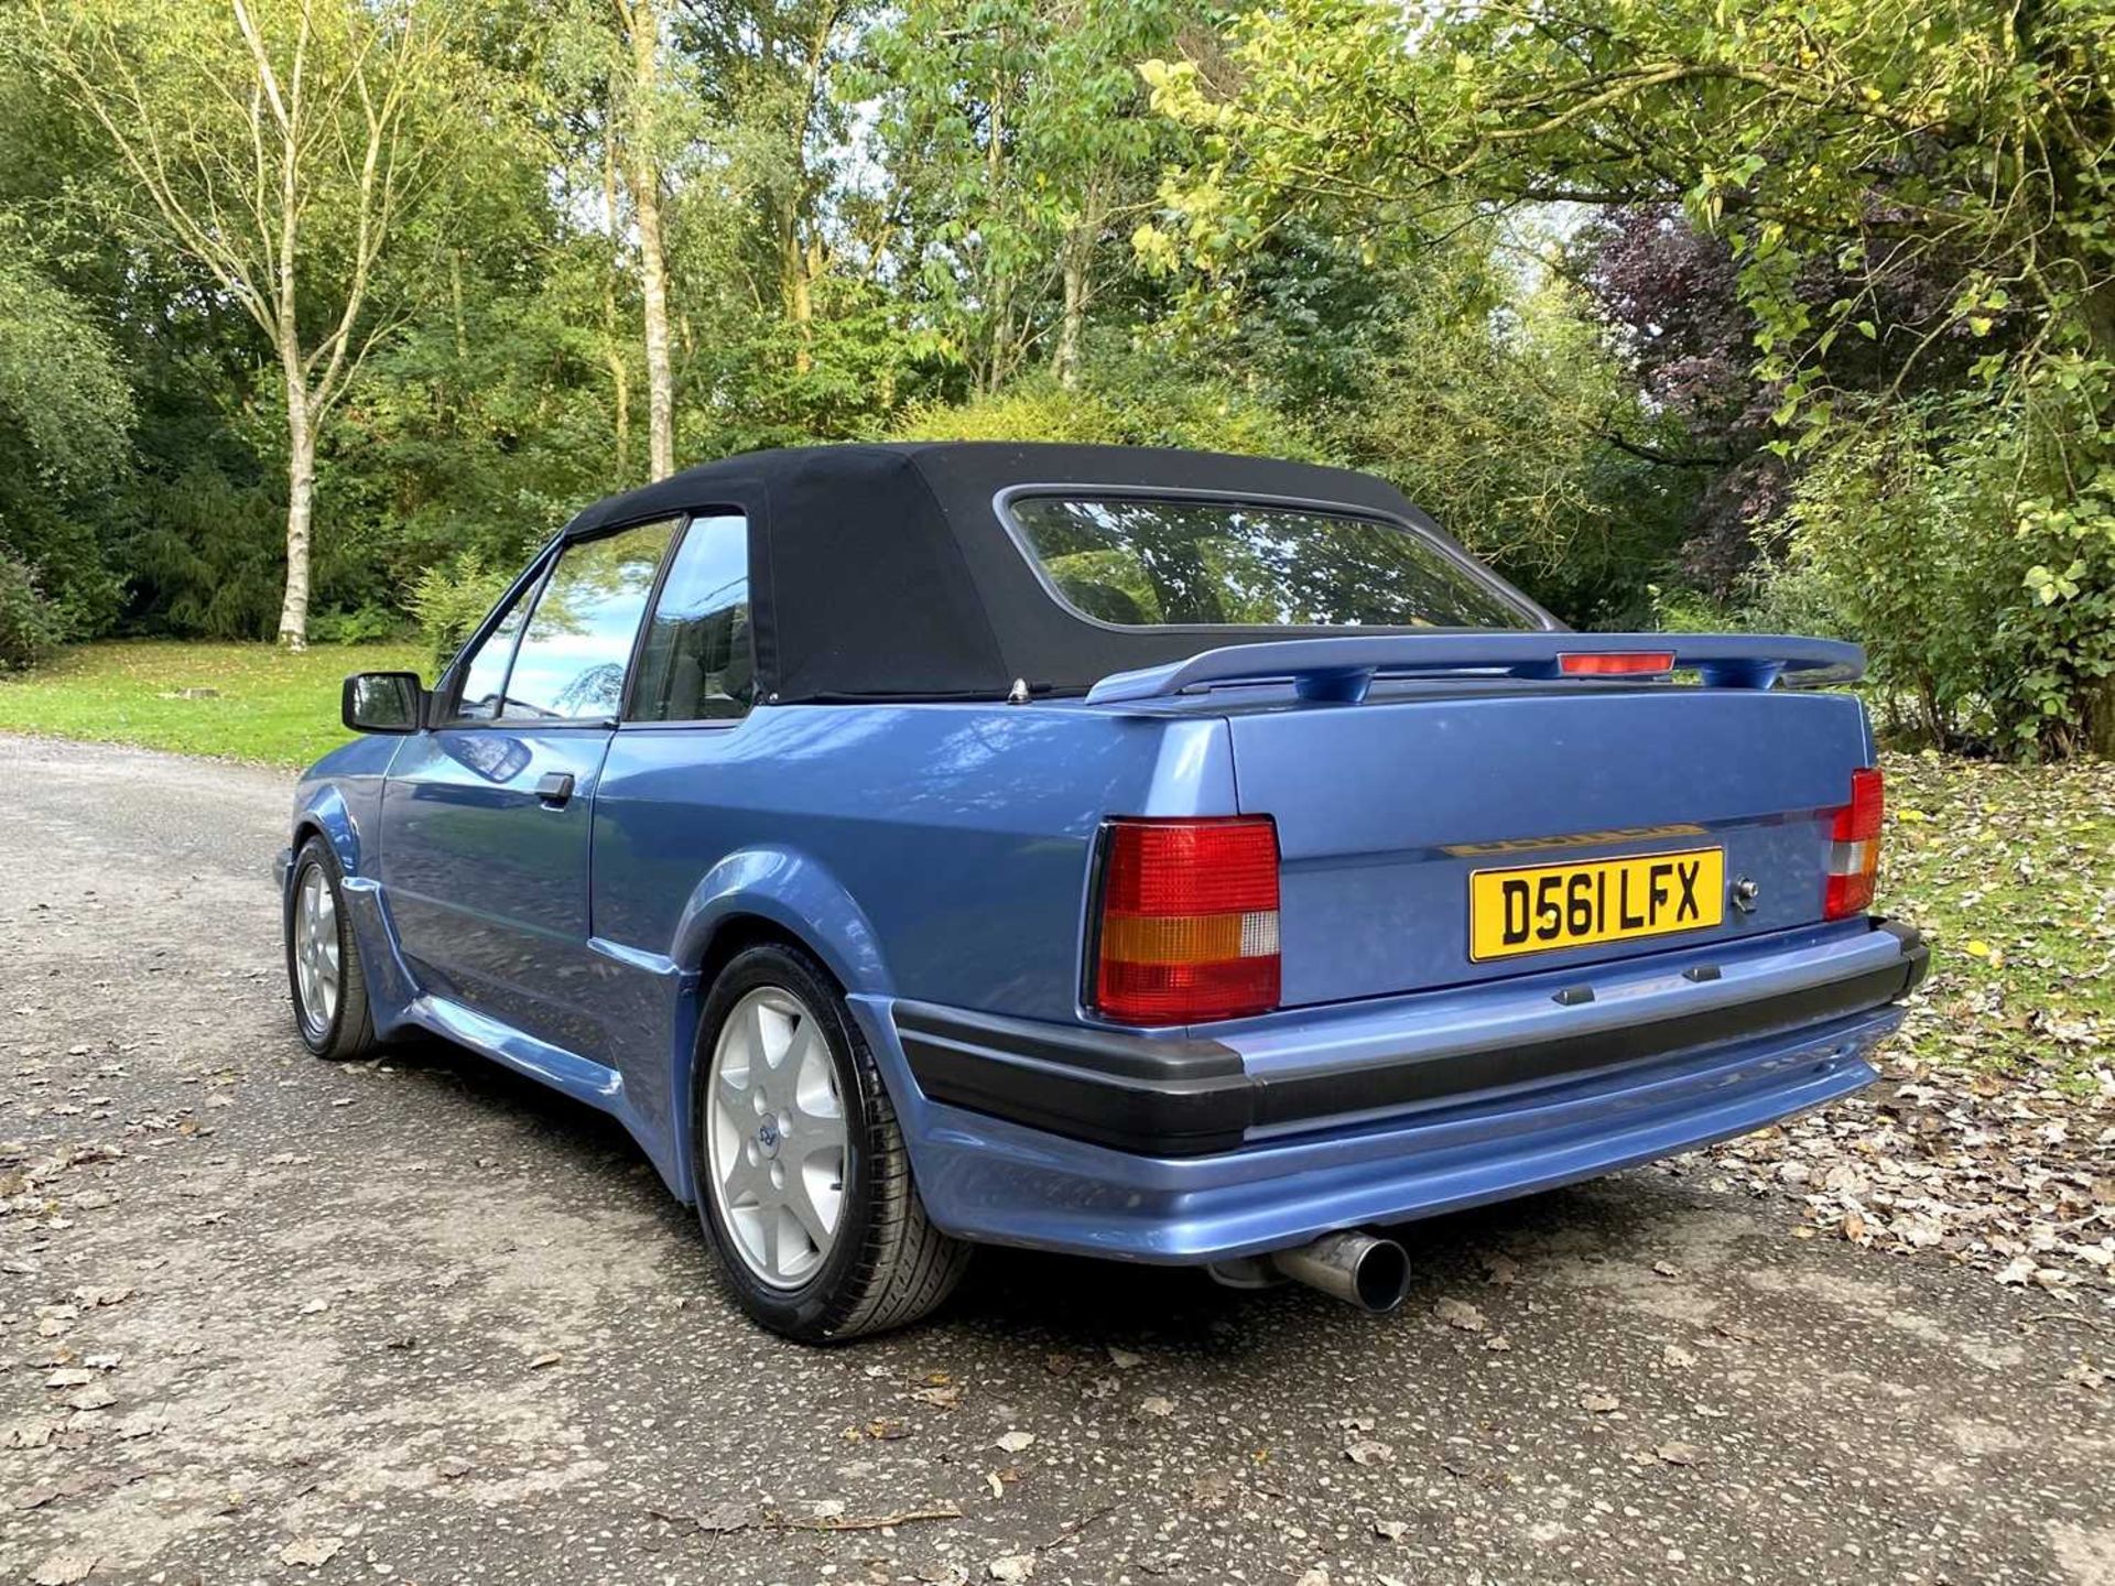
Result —
<instances>
[{"instance_id":1,"label":"black rubber tyre around the silver rear wheel rim","mask_svg":"<svg viewBox=\"0 0 2115 1586\"><path fill-rule=\"evenodd\" d=\"M814 1015L829 1040L846 1117L840 1222L823 1265L799 1288L774 1288L751 1271L706 1182L713 1172L706 1093L719 1030L744 996L766 988L791 992ZM776 943L736 954L706 996L692 1074L689 1138L698 1174L698 1222L719 1258L721 1281L751 1317L799 1343L842 1343L918 1322L962 1281L971 1246L950 1239L926 1216L888 1089L859 1023L844 1007L844 994L814 958Z\"/></svg>"}]
</instances>

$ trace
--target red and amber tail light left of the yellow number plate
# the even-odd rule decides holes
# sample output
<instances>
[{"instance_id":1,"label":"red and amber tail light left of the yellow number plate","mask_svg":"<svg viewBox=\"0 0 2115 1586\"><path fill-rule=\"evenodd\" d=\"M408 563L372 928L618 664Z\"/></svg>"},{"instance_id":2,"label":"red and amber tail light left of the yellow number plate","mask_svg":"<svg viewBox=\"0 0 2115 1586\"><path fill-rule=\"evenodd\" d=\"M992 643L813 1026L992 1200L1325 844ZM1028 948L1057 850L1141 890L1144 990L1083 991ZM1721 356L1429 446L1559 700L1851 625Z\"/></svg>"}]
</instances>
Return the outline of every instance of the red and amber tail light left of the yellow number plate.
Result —
<instances>
[{"instance_id":1,"label":"red and amber tail light left of the yellow number plate","mask_svg":"<svg viewBox=\"0 0 2115 1586\"><path fill-rule=\"evenodd\" d=\"M1199 1023L1277 1007L1277 825L1269 816L1110 820L1093 1007Z\"/></svg>"}]
</instances>

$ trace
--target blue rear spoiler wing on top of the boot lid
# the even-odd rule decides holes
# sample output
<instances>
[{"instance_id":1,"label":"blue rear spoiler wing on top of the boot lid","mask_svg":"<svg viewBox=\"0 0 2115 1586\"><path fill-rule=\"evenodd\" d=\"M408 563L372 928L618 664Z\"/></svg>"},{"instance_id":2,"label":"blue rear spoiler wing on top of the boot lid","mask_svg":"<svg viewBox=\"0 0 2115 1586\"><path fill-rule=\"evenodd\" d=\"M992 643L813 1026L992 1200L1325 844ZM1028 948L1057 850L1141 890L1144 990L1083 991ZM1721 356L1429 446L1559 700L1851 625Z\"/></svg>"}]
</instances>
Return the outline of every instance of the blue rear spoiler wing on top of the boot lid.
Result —
<instances>
[{"instance_id":1,"label":"blue rear spoiler wing on top of the boot lid","mask_svg":"<svg viewBox=\"0 0 2115 1586\"><path fill-rule=\"evenodd\" d=\"M1286 679L1303 700L1366 698L1375 677L1567 677L1565 656L1671 656L1652 675L1696 672L1707 687L1766 689L1851 683L1865 651L1836 639L1726 632L1392 632L1277 639L1206 649L1182 662L1112 672L1087 704L1161 700L1212 683ZM1637 675L1633 675L1635 681Z\"/></svg>"}]
</instances>

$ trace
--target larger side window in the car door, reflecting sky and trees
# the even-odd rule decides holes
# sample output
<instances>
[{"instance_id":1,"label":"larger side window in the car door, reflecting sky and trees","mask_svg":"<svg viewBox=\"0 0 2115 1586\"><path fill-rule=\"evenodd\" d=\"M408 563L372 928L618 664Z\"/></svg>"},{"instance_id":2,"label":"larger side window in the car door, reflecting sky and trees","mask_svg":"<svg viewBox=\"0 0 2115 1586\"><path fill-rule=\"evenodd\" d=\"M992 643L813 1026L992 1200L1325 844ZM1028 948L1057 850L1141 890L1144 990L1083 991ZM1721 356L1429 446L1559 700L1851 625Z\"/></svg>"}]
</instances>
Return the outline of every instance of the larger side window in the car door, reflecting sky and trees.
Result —
<instances>
[{"instance_id":1,"label":"larger side window in the car door, reflecting sky and trees","mask_svg":"<svg viewBox=\"0 0 2115 1586\"><path fill-rule=\"evenodd\" d=\"M639 615L673 535L675 522L645 522L558 554L514 651L501 721L618 715Z\"/></svg>"}]
</instances>

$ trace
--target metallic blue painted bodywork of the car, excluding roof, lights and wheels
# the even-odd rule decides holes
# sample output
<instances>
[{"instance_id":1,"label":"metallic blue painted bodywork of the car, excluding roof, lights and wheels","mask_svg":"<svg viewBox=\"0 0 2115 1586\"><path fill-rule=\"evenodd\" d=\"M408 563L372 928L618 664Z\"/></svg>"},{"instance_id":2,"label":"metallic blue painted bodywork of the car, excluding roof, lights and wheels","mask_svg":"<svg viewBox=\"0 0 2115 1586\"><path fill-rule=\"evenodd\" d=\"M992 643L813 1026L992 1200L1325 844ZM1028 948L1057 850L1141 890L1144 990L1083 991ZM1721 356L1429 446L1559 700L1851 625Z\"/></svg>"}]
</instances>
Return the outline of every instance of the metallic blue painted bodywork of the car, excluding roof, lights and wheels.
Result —
<instances>
[{"instance_id":1,"label":"metallic blue painted bodywork of the car, excluding roof, lights and wheels","mask_svg":"<svg viewBox=\"0 0 2115 1586\"><path fill-rule=\"evenodd\" d=\"M1256 1129L1191 1159L931 1102L895 1034L899 998L1093 1023L1083 943L1106 816L1275 816L1288 1007L1195 1034L1252 1074L1307 1074L1853 973L1887 947L1863 922L1819 920L1823 812L1868 759L1863 713L1836 696L1430 679L1328 704L1252 681L1115 706L808 704L738 723L370 738L309 772L294 833L324 831L338 852L381 1032L431 1030L613 1114L683 1199L704 971L728 933L766 930L846 988L941 1227L1210 1260L1760 1127L1870 1081L1863 1053L1897 1015ZM550 770L575 776L563 808L535 797ZM1658 823L1722 842L1728 878L1762 880L1758 911L1643 954L1466 962L1466 873L1512 861L1449 848ZM1654 846L1612 831L1565 852ZM1700 962L1724 979L1681 977ZM1586 969L1593 1004L1550 1000Z\"/></svg>"}]
</instances>

